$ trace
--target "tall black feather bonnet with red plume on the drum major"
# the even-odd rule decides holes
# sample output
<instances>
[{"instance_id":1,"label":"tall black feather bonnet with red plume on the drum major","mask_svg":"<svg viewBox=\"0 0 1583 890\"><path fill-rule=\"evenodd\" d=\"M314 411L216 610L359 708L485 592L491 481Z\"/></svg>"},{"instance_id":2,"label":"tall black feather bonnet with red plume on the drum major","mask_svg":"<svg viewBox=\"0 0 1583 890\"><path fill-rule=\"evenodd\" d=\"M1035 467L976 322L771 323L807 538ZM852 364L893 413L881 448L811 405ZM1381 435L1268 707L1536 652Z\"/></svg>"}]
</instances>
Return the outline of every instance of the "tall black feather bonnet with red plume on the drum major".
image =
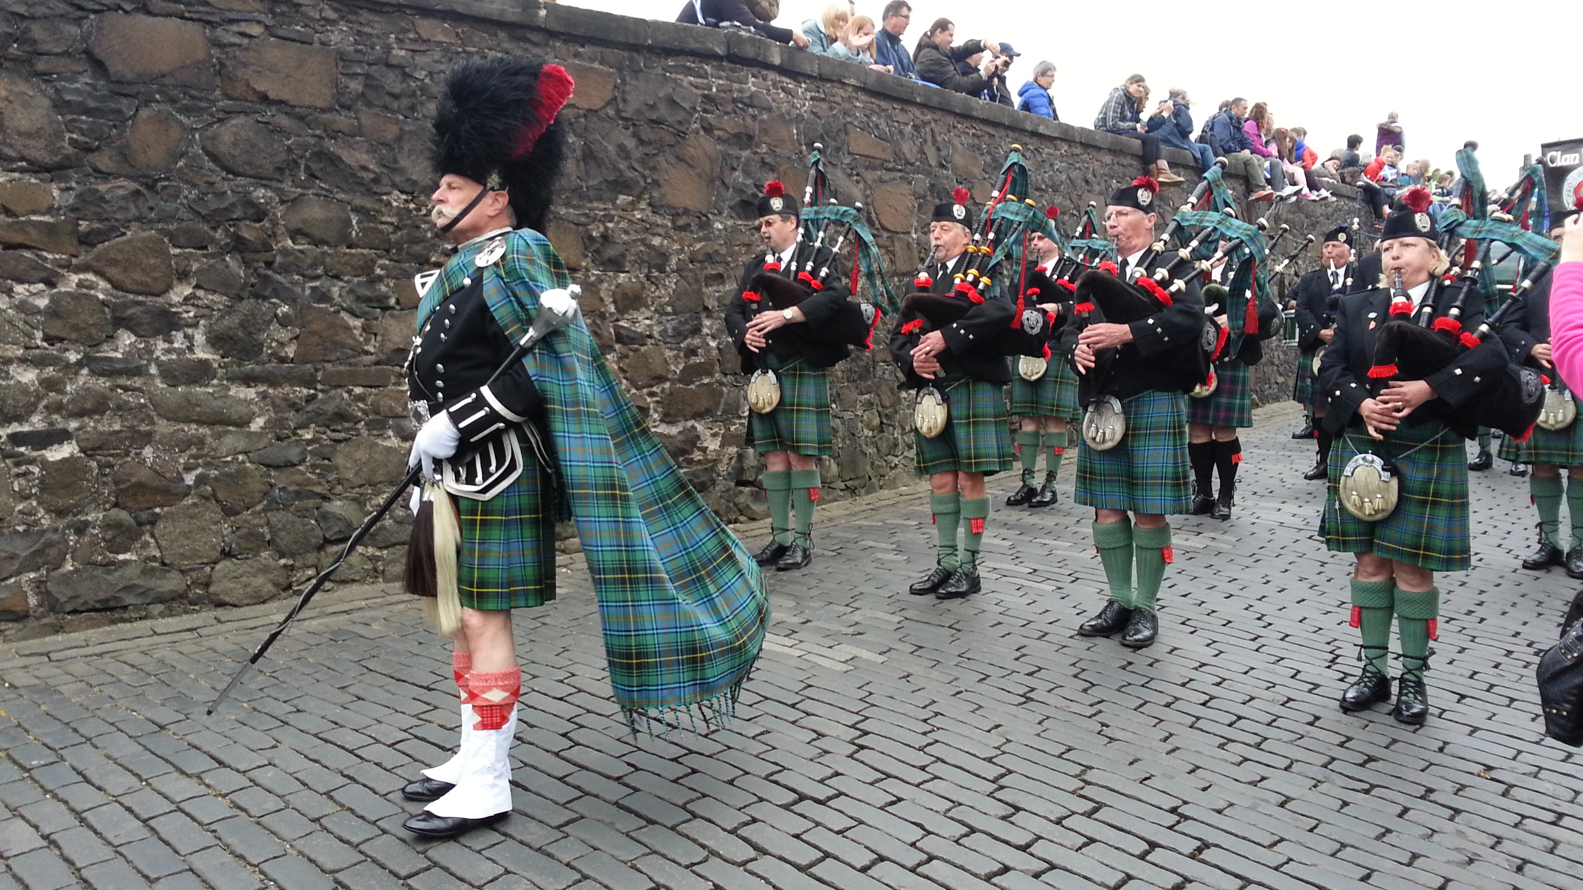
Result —
<instances>
[{"instance_id":1,"label":"tall black feather bonnet with red plume on the drum major","mask_svg":"<svg viewBox=\"0 0 1583 890\"><path fill-rule=\"evenodd\" d=\"M556 116L571 98L560 65L469 62L445 81L434 112L434 173L511 195L519 228L545 230L565 136Z\"/></svg>"}]
</instances>

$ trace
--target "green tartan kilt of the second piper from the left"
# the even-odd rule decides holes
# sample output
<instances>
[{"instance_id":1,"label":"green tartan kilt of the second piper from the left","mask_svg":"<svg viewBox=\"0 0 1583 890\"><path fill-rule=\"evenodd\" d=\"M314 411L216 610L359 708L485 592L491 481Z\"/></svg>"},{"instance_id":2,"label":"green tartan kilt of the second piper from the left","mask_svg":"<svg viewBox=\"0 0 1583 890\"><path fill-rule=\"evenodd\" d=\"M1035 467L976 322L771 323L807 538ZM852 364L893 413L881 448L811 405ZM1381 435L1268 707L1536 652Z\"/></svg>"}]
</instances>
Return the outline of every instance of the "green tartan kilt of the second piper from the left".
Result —
<instances>
[{"instance_id":1,"label":"green tartan kilt of the second piper from the left","mask_svg":"<svg viewBox=\"0 0 1583 890\"><path fill-rule=\"evenodd\" d=\"M934 439L912 434L918 443L913 470L926 477L948 470L994 475L1012 469L1015 458L1000 383L948 377L937 380L934 388L945 394L945 429Z\"/></svg>"}]
</instances>

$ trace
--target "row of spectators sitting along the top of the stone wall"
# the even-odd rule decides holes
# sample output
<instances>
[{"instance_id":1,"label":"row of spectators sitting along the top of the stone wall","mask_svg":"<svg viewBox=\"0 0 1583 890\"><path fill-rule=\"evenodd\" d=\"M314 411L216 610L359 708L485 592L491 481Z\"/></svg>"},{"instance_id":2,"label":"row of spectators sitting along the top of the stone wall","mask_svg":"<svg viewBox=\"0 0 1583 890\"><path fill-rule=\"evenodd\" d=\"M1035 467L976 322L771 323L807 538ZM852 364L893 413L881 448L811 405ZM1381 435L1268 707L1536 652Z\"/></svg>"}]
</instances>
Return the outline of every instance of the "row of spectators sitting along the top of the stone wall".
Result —
<instances>
[{"instance_id":1,"label":"row of spectators sitting along the top of the stone wall","mask_svg":"<svg viewBox=\"0 0 1583 890\"><path fill-rule=\"evenodd\" d=\"M1061 120L1050 92L1054 63L1035 63L1032 76L1013 90L1007 71L1021 54L1005 41L958 43L950 19L936 19L909 49L902 40L912 27L907 0L885 3L877 21L858 14L855 0L829 3L822 17L801 29L773 24L779 14L780 0L687 0L676 21L750 30L776 43ZM1320 160L1303 127L1276 127L1268 103L1228 98L1195 128L1186 90L1173 87L1152 105L1149 97L1143 74L1127 76L1105 98L1094 130L1140 141L1145 173L1162 185L1183 182L1160 157L1160 147L1170 146L1190 152L1200 168L1227 158L1228 169L1254 187L1255 201L1327 201L1333 200L1328 187L1346 182L1363 192L1376 219L1384 219L1391 198L1410 185L1428 185L1442 200L1455 195L1455 171L1442 173L1428 160L1403 162L1403 127L1395 111L1376 125L1371 155L1363 152L1363 136L1352 135L1344 149Z\"/></svg>"}]
</instances>

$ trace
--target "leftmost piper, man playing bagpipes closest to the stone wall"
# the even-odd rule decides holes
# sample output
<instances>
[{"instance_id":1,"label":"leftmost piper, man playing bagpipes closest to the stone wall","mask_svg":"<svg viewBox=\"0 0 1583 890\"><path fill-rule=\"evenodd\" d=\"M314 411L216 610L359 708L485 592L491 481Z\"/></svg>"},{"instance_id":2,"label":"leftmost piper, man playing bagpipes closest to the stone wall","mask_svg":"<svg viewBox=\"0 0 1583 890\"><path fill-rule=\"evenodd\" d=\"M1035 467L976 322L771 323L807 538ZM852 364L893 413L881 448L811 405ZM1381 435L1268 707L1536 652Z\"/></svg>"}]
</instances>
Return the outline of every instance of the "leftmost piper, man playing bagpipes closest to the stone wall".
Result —
<instances>
[{"instance_id":1,"label":"leftmost piper, man playing bagpipes closest to the stone wall","mask_svg":"<svg viewBox=\"0 0 1583 890\"><path fill-rule=\"evenodd\" d=\"M804 200L817 206L823 190L815 150ZM725 329L742 371L754 375L747 443L765 458L771 537L755 559L787 572L814 559L818 458L831 453L829 367L852 353L853 340L864 340L879 315L869 307L864 318L847 299L845 276L833 274L836 253L823 241L834 226L822 220L804 228L796 198L779 181L765 184L755 212L765 255L742 269L725 306Z\"/></svg>"}]
</instances>

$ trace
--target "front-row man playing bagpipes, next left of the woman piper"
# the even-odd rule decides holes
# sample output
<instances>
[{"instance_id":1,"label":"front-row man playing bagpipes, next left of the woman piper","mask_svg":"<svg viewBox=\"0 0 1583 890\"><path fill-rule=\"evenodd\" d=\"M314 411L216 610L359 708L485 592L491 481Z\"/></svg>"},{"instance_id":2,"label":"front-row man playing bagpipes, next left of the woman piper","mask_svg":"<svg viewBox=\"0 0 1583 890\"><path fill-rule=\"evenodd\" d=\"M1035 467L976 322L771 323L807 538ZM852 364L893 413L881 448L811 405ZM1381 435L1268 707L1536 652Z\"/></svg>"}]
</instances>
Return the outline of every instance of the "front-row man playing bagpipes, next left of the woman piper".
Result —
<instances>
[{"instance_id":1,"label":"front-row man playing bagpipes, next left of the woman piper","mask_svg":"<svg viewBox=\"0 0 1583 890\"><path fill-rule=\"evenodd\" d=\"M1105 608L1078 633L1122 632L1121 643L1132 648L1154 643L1159 632L1156 599L1173 557L1165 516L1192 507L1183 393L1205 382L1209 352L1198 268L1186 264L1186 280L1159 282L1154 272L1175 260L1154 252L1140 263L1154 241L1157 195L1148 177L1110 195L1105 231L1119 266L1078 279L1073 318L1061 336L1086 409L1075 500L1094 508L1094 545L1110 584Z\"/></svg>"}]
</instances>

